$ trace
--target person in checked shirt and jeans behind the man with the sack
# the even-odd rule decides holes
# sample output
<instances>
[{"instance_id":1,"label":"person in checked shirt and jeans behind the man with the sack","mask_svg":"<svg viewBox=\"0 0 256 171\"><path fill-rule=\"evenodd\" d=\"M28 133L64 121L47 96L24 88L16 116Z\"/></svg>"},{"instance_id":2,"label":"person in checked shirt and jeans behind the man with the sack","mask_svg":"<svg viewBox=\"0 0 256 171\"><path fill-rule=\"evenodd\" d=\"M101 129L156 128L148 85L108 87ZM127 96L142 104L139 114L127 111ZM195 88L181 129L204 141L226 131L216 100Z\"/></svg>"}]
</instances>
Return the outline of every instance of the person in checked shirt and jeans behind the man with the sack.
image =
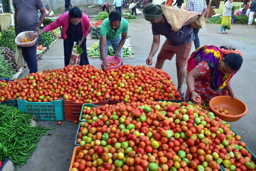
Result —
<instances>
[{"instance_id":1,"label":"person in checked shirt and jeans behind the man with the sack","mask_svg":"<svg viewBox=\"0 0 256 171\"><path fill-rule=\"evenodd\" d=\"M188 0L187 1L187 10L198 12L198 13L203 14L204 16L206 16L207 15L206 1L205 0ZM198 36L199 30L200 30L200 28L194 28L193 29L194 34L195 34L195 40L194 40L195 49L200 47L200 39L199 39L199 36Z\"/></svg>"}]
</instances>

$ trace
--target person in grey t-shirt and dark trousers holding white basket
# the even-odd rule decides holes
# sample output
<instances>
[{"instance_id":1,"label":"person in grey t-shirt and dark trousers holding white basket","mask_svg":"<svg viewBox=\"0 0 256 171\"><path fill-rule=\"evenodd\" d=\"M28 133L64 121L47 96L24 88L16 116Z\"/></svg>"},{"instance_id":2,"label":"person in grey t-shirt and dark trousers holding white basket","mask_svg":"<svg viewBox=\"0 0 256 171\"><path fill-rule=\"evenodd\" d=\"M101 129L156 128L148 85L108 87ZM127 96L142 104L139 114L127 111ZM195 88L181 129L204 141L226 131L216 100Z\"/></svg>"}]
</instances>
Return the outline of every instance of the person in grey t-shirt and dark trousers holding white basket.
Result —
<instances>
[{"instance_id":1,"label":"person in grey t-shirt and dark trousers holding white basket","mask_svg":"<svg viewBox=\"0 0 256 171\"><path fill-rule=\"evenodd\" d=\"M25 31L40 31L40 26L46 16L46 9L42 0L13 0L15 9L15 33L18 35ZM38 22L38 9L41 12L40 20ZM21 47L22 55L27 66L29 73L36 73L37 69L37 42L32 47Z\"/></svg>"}]
</instances>

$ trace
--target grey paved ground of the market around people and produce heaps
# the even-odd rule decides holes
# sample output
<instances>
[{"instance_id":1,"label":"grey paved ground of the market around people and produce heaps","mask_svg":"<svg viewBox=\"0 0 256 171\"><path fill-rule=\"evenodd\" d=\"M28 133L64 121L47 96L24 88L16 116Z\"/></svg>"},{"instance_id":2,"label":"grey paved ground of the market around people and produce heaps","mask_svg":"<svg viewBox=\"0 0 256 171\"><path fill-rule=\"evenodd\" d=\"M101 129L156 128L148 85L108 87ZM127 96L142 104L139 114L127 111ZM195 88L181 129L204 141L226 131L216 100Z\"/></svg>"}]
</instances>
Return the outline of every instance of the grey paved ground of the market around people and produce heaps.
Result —
<instances>
[{"instance_id":1,"label":"grey paved ground of the market around people and produce heaps","mask_svg":"<svg viewBox=\"0 0 256 171\"><path fill-rule=\"evenodd\" d=\"M149 54L152 43L151 24L141 19L130 22L128 35L131 36L131 44L133 45L134 59L124 59L124 64L145 65L145 60ZM228 35L218 33L219 24L206 24L204 29L199 32L201 45L231 45L242 51L244 63L240 71L233 77L232 85L238 98L244 101L248 106L248 113L241 120L232 125L232 129L239 133L242 140L256 154L256 118L255 118L255 76L256 76L256 28L247 25L232 25L232 29L228 30ZM247 39L241 39L247 38ZM64 67L63 40L59 39L56 44L50 48L38 61L38 69L46 70L52 68ZM95 40L87 40L87 47L93 44ZM161 45L165 38L161 36ZM193 49L194 50L194 47ZM99 59L89 59L91 65L100 68ZM153 63L156 62L156 56ZM170 74L174 82L177 84L177 75L175 69L175 59L166 61L163 70ZM28 74L25 71L20 77ZM183 90L186 90L184 85ZM75 133L78 125L73 122L62 122L61 126L55 121L40 121L39 124L49 127L57 127L50 130L52 136L45 136L40 139L37 149L27 164L18 169L18 171L45 171L45 170L67 170L70 165L75 140Z\"/></svg>"}]
</instances>

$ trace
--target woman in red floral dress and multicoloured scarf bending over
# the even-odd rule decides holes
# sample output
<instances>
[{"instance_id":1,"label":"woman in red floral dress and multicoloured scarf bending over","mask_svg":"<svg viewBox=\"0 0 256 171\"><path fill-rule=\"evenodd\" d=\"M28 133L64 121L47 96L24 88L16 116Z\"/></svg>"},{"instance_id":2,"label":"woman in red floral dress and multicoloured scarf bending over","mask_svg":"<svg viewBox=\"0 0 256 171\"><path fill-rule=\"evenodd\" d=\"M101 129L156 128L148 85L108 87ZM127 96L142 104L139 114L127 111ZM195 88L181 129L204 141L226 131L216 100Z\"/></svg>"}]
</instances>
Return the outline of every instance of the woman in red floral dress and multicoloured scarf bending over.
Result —
<instances>
[{"instance_id":1,"label":"woman in red floral dress and multicoloured scarf bending over","mask_svg":"<svg viewBox=\"0 0 256 171\"><path fill-rule=\"evenodd\" d=\"M242 65L242 53L236 49L205 45L194 51L187 62L186 101L205 103L219 95L235 98L230 79Z\"/></svg>"}]
</instances>

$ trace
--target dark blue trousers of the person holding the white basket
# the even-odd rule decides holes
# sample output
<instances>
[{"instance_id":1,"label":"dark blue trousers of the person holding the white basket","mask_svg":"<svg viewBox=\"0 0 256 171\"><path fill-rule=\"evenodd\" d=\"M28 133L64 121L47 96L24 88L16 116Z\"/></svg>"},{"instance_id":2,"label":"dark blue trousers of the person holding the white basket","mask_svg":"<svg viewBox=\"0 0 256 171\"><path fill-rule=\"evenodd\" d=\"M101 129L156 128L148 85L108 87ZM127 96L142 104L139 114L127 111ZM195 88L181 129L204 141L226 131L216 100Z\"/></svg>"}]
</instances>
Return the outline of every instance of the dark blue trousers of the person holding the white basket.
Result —
<instances>
[{"instance_id":1,"label":"dark blue trousers of the person holding the white basket","mask_svg":"<svg viewBox=\"0 0 256 171\"><path fill-rule=\"evenodd\" d=\"M30 30L20 30L17 28L17 32L25 32ZM38 42L38 38L37 38ZM37 69L37 42L32 47L21 47L22 55L25 61L27 62L27 67L29 67L29 74L36 73Z\"/></svg>"}]
</instances>

